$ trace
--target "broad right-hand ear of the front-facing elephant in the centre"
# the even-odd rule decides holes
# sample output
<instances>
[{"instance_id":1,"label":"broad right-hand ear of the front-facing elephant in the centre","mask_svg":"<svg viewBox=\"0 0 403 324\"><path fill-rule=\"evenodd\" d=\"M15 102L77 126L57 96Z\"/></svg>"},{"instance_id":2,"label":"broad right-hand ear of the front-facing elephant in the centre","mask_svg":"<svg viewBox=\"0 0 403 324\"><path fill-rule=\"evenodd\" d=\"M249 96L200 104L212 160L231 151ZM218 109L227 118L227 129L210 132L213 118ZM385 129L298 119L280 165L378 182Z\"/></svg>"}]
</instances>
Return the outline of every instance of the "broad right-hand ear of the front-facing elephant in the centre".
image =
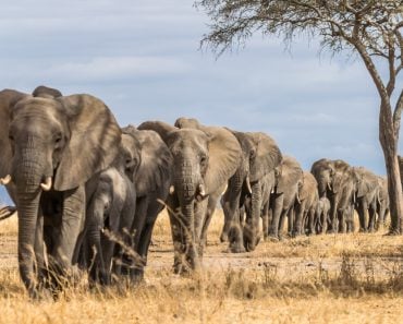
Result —
<instances>
[{"instance_id":1,"label":"broad right-hand ear of the front-facing elephant in the centre","mask_svg":"<svg viewBox=\"0 0 403 324\"><path fill-rule=\"evenodd\" d=\"M208 167L205 176L206 193L216 192L236 171L242 149L236 137L224 128L204 127L210 137Z\"/></svg>"}]
</instances>

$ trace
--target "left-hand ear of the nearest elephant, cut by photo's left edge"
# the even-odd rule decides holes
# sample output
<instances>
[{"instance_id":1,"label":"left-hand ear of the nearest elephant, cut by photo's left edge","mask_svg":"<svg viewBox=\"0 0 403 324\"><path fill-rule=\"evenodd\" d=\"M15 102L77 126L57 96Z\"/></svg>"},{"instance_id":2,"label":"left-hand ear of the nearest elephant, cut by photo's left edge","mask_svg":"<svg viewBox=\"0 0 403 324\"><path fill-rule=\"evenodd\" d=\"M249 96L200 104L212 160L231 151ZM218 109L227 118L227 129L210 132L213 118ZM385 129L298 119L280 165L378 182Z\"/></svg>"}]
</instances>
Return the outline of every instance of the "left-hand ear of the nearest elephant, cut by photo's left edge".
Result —
<instances>
[{"instance_id":1,"label":"left-hand ear of the nearest elephant, cut by photo's left edge","mask_svg":"<svg viewBox=\"0 0 403 324\"><path fill-rule=\"evenodd\" d=\"M10 117L15 104L26 96L12 89L0 92L0 178L11 173Z\"/></svg>"}]
</instances>

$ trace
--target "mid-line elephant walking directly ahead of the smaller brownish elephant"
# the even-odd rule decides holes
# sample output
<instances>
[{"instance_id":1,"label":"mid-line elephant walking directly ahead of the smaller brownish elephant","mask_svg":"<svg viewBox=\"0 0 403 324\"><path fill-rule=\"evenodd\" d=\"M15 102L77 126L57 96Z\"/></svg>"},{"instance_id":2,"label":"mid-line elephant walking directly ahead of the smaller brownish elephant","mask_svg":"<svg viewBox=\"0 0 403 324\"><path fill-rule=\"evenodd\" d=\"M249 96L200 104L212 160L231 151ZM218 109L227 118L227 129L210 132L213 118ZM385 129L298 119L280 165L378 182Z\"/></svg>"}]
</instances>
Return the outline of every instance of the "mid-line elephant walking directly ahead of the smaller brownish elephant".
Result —
<instances>
[{"instance_id":1,"label":"mid-line elephant walking directly ahead of the smaller brownish elephant","mask_svg":"<svg viewBox=\"0 0 403 324\"><path fill-rule=\"evenodd\" d=\"M290 236L294 232L294 205L298 199L298 193L304 181L304 171L300 163L290 156L284 156L278 167L277 183L271 194L270 207L272 209L272 220L265 239L281 240L285 217L289 217Z\"/></svg>"}]
</instances>

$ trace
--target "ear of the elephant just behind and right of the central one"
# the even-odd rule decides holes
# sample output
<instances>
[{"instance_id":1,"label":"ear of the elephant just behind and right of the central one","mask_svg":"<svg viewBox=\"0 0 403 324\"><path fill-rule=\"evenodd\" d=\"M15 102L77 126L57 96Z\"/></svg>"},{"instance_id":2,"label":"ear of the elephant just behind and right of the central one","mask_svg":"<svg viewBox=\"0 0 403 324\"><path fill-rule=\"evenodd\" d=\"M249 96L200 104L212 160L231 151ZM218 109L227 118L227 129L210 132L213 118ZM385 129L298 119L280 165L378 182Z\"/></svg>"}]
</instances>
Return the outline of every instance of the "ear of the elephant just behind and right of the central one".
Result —
<instances>
[{"instance_id":1,"label":"ear of the elephant just behind and right of the central one","mask_svg":"<svg viewBox=\"0 0 403 324\"><path fill-rule=\"evenodd\" d=\"M257 132L246 133L255 143L255 156L251 160L251 182L258 181L281 164L282 155L276 141L269 135Z\"/></svg>"}]
</instances>

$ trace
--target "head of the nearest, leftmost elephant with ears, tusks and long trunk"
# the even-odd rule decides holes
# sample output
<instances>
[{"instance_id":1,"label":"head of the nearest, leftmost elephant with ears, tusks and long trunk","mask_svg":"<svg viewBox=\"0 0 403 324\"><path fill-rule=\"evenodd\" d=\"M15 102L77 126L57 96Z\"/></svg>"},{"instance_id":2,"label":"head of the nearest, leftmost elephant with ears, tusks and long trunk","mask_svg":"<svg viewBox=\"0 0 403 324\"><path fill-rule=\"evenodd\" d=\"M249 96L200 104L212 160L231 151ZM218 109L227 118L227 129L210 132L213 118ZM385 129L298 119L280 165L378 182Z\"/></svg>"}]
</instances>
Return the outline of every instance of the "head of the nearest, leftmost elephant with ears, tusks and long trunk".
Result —
<instances>
[{"instance_id":1,"label":"head of the nearest, leftmost elephant with ears, tusks and long trunk","mask_svg":"<svg viewBox=\"0 0 403 324\"><path fill-rule=\"evenodd\" d=\"M113 115L93 96L0 93L0 181L17 206L20 273L29 289L42 192L78 188L113 161L120 141Z\"/></svg>"}]
</instances>

